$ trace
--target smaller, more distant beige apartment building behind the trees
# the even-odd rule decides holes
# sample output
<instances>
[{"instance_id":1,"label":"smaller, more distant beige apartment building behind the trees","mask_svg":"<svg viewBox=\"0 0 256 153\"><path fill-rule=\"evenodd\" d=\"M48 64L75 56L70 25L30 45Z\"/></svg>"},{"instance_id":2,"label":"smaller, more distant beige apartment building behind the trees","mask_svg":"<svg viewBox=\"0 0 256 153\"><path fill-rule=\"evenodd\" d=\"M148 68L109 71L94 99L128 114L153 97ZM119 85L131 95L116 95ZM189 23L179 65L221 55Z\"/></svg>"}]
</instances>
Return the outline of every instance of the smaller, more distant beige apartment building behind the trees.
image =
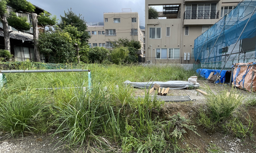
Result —
<instances>
[{"instance_id":1,"label":"smaller, more distant beige apartment building behind the trees","mask_svg":"<svg viewBox=\"0 0 256 153\"><path fill-rule=\"evenodd\" d=\"M115 42L118 38L138 40L143 46L138 12L104 13L103 20L104 22L87 22L87 32L92 36L89 40L90 47L111 49L113 47L111 42Z\"/></svg>"}]
</instances>

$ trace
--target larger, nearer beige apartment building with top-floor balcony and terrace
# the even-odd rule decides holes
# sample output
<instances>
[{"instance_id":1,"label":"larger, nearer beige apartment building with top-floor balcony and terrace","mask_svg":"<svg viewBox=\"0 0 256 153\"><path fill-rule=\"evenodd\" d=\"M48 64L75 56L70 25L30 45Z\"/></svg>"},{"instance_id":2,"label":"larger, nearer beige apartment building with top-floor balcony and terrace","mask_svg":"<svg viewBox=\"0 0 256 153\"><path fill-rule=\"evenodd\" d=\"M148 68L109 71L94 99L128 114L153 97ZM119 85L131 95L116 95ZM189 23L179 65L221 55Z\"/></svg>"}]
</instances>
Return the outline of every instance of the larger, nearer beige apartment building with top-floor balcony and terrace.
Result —
<instances>
[{"instance_id":1,"label":"larger, nearer beige apartment building with top-floor balcony and terrace","mask_svg":"<svg viewBox=\"0 0 256 153\"><path fill-rule=\"evenodd\" d=\"M236 0L145 0L145 60L194 63L194 40L238 3ZM163 8L158 12L158 19L148 14L150 6Z\"/></svg>"}]
</instances>

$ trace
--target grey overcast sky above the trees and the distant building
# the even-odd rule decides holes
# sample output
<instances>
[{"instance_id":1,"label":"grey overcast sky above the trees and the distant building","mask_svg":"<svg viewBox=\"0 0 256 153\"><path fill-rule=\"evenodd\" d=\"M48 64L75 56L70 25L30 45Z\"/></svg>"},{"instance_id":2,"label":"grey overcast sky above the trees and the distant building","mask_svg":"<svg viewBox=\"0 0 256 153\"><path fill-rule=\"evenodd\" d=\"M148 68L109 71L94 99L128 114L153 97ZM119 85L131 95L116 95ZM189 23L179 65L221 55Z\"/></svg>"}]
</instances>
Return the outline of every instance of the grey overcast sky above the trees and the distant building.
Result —
<instances>
[{"instance_id":1,"label":"grey overcast sky above the trees and the distant building","mask_svg":"<svg viewBox=\"0 0 256 153\"><path fill-rule=\"evenodd\" d=\"M56 15L64 16L64 11L72 8L80 13L86 22L103 22L104 12L122 12L124 8L138 12L140 24L145 26L145 0L28 0L32 4Z\"/></svg>"}]
</instances>

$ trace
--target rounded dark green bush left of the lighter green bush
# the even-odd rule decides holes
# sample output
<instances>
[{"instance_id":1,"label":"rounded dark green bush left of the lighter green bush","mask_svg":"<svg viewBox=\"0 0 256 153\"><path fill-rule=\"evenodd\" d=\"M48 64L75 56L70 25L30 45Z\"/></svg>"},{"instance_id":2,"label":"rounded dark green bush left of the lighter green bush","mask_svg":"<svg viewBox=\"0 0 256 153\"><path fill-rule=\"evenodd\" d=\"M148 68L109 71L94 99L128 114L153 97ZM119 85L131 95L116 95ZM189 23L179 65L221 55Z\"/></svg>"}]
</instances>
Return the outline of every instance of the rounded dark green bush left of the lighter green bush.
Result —
<instances>
[{"instance_id":1,"label":"rounded dark green bush left of the lighter green bush","mask_svg":"<svg viewBox=\"0 0 256 153\"><path fill-rule=\"evenodd\" d=\"M108 57L108 49L104 47L93 47L89 49L88 58L93 63L101 63Z\"/></svg>"}]
</instances>

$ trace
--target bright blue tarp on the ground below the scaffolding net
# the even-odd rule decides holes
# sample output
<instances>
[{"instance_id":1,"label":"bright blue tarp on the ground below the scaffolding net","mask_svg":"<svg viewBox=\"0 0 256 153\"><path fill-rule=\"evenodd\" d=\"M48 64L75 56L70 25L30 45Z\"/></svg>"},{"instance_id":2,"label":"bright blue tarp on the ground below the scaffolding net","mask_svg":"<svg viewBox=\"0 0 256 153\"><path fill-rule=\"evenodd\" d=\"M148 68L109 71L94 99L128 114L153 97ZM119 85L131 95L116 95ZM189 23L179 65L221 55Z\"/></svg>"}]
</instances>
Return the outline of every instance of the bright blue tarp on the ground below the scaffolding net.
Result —
<instances>
[{"instance_id":1,"label":"bright blue tarp on the ground below the scaffolding net","mask_svg":"<svg viewBox=\"0 0 256 153\"><path fill-rule=\"evenodd\" d=\"M198 74L200 72L200 76L204 77L206 79L209 77L211 72L214 72L214 75L218 73L220 75L220 79L217 80L215 83L224 83L226 80L226 72L227 72L226 70L222 70L220 73L220 70L218 70L218 69L202 69L202 70L197 69L196 72Z\"/></svg>"}]
</instances>

